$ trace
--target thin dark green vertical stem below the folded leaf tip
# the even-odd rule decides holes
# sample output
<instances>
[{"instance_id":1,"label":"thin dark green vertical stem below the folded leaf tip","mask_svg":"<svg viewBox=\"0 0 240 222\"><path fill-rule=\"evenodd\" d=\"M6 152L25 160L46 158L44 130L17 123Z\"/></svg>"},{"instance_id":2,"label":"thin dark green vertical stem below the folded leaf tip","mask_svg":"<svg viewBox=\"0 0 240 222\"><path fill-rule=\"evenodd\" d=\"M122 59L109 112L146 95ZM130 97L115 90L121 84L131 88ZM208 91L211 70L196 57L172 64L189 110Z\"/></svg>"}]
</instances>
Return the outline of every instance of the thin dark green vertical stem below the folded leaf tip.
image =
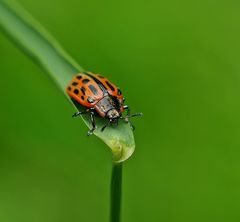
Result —
<instances>
[{"instance_id":1,"label":"thin dark green vertical stem below the folded leaf tip","mask_svg":"<svg viewBox=\"0 0 240 222\"><path fill-rule=\"evenodd\" d=\"M113 163L111 180L110 222L120 222L122 196L122 163Z\"/></svg>"}]
</instances>

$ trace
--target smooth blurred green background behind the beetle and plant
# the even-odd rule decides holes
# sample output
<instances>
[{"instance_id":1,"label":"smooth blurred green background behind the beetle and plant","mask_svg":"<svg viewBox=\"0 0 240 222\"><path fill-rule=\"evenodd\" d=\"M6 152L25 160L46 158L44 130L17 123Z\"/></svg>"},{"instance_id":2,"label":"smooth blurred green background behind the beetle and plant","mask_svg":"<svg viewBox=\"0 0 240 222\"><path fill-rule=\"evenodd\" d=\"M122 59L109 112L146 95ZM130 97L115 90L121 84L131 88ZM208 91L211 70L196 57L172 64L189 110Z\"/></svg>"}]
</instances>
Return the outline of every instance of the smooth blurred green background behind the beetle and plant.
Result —
<instances>
[{"instance_id":1,"label":"smooth blurred green background behind the beetle and plant","mask_svg":"<svg viewBox=\"0 0 240 222\"><path fill-rule=\"evenodd\" d=\"M240 220L239 1L19 2L123 91L123 222ZM108 221L111 153L0 35L0 221Z\"/></svg>"}]
</instances>

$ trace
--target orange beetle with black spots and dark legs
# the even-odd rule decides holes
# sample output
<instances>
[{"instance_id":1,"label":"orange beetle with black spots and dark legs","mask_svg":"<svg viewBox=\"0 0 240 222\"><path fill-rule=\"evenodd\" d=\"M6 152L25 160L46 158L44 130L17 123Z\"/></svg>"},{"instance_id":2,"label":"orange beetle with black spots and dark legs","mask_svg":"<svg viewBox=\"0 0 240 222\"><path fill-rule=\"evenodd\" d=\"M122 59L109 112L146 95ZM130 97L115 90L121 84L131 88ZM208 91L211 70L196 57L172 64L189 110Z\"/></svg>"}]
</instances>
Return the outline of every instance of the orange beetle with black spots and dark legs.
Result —
<instances>
[{"instance_id":1,"label":"orange beetle with black spots and dark legs","mask_svg":"<svg viewBox=\"0 0 240 222\"><path fill-rule=\"evenodd\" d=\"M108 123L102 127L101 131L110 124L118 125L119 119L123 119L130 124L132 130L135 127L129 120L131 117L142 116L142 113L130 113L130 108L124 105L121 90L111 83L107 78L92 72L82 72L75 75L66 88L67 94L85 109L76 112L73 117L90 113L92 128L88 131L88 136L92 135L96 129L95 116L107 118ZM122 113L127 110L127 115Z\"/></svg>"}]
</instances>

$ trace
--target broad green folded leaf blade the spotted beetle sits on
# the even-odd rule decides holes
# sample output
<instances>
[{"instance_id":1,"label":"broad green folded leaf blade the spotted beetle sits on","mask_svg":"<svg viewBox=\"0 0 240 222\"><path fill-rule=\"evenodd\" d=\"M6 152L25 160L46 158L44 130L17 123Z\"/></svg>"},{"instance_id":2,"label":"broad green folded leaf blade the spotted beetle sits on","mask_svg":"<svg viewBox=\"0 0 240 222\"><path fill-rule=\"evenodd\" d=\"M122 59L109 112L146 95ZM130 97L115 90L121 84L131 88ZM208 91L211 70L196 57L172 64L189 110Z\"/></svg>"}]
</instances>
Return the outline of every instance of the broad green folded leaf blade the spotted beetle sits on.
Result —
<instances>
[{"instance_id":1,"label":"broad green folded leaf blade the spotted beetle sits on","mask_svg":"<svg viewBox=\"0 0 240 222\"><path fill-rule=\"evenodd\" d=\"M67 96L65 91L67 84L74 75L84 70L56 40L23 8L10 0L0 0L0 27L9 39L47 71ZM71 102L70 99L69 101ZM72 105L74 106L73 103ZM81 110L78 105L75 108ZM89 116L82 118L90 128ZM128 159L135 149L134 137L129 125L121 122L118 127L111 126L101 132L100 129L106 124L106 120L97 118L96 122L98 128L94 134L111 148L114 161L122 162Z\"/></svg>"}]
</instances>

